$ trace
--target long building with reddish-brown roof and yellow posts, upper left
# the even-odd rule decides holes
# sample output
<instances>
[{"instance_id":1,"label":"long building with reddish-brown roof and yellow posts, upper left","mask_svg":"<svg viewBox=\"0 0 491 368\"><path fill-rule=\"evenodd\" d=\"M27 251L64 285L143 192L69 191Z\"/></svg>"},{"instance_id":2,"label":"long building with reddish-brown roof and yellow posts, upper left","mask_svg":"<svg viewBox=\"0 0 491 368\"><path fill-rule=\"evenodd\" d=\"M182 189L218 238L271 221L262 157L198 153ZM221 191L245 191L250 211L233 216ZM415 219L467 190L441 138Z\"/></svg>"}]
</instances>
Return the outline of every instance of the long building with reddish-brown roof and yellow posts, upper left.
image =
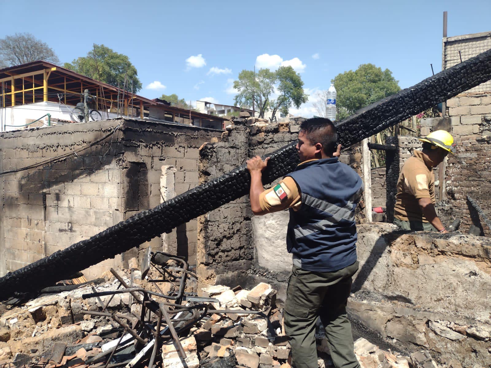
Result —
<instances>
[{"instance_id":1,"label":"long building with reddish-brown roof and yellow posts, upper left","mask_svg":"<svg viewBox=\"0 0 491 368\"><path fill-rule=\"evenodd\" d=\"M100 114L93 115L96 120L129 117L212 129L223 129L226 121L150 100L46 61L33 61L0 70L0 131L72 123L76 120L72 112L83 103L85 90L93 96L90 108Z\"/></svg>"}]
</instances>

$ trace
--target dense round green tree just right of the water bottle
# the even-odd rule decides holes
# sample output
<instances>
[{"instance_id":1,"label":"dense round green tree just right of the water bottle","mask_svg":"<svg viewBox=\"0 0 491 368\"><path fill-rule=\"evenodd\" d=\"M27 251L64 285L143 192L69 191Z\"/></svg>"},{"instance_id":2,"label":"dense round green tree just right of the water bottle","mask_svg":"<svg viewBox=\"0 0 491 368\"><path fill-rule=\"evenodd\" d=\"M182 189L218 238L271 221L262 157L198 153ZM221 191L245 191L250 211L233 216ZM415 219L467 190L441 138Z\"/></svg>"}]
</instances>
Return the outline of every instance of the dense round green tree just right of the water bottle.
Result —
<instances>
[{"instance_id":1,"label":"dense round green tree just right of the water bottle","mask_svg":"<svg viewBox=\"0 0 491 368\"><path fill-rule=\"evenodd\" d=\"M382 71L373 64L361 64L355 71L340 73L332 82L337 91L337 120L401 90L390 70Z\"/></svg>"}]
</instances>

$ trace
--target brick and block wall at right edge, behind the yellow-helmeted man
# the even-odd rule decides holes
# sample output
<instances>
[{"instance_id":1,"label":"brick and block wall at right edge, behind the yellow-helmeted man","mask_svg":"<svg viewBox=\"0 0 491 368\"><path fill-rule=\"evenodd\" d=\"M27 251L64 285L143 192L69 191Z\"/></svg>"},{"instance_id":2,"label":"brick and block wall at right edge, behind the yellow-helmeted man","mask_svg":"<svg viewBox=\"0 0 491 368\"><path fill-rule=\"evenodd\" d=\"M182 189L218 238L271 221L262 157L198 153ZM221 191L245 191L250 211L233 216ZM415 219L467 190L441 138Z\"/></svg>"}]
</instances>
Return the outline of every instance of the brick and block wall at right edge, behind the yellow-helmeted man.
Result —
<instances>
[{"instance_id":1,"label":"brick and block wall at right edge, behind the yellow-helmeted man","mask_svg":"<svg viewBox=\"0 0 491 368\"><path fill-rule=\"evenodd\" d=\"M444 68L491 49L491 32L443 39ZM490 229L468 203L467 195L491 217L491 81L480 84L447 101L451 130L457 154L449 155L446 166L445 194L448 220L460 218L461 230L470 225L491 236Z\"/></svg>"}]
</instances>

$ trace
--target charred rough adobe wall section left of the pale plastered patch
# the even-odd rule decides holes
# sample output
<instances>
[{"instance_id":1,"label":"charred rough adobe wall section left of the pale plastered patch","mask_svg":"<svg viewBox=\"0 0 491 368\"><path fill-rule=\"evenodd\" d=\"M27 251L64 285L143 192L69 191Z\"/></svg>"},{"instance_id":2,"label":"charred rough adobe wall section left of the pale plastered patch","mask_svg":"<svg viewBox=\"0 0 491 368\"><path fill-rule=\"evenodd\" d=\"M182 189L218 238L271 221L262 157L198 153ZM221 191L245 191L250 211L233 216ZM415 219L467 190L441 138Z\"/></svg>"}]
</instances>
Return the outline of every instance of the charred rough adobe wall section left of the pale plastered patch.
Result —
<instances>
[{"instance_id":1,"label":"charred rough adobe wall section left of the pale plastered patch","mask_svg":"<svg viewBox=\"0 0 491 368\"><path fill-rule=\"evenodd\" d=\"M200 149L200 183L218 178L244 164L248 158L249 130L237 126L220 142ZM248 269L253 260L250 242L252 212L246 196L224 204L198 218L197 273L206 283L217 276ZM218 281L218 284L221 283Z\"/></svg>"}]
</instances>

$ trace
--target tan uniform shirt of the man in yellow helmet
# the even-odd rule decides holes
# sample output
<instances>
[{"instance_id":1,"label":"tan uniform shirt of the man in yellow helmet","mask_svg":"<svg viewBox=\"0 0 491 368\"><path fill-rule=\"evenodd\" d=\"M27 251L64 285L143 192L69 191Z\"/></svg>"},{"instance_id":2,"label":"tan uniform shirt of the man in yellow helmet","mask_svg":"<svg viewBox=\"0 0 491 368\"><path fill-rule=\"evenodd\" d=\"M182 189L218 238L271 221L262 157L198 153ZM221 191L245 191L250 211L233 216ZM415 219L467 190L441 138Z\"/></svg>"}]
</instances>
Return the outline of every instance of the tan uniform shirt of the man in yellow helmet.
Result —
<instances>
[{"instance_id":1,"label":"tan uniform shirt of the man in yellow helmet","mask_svg":"<svg viewBox=\"0 0 491 368\"><path fill-rule=\"evenodd\" d=\"M401 221L428 222L423 215L418 199L430 198L435 204L435 175L424 161L421 151L404 163L397 180L394 217Z\"/></svg>"}]
</instances>

